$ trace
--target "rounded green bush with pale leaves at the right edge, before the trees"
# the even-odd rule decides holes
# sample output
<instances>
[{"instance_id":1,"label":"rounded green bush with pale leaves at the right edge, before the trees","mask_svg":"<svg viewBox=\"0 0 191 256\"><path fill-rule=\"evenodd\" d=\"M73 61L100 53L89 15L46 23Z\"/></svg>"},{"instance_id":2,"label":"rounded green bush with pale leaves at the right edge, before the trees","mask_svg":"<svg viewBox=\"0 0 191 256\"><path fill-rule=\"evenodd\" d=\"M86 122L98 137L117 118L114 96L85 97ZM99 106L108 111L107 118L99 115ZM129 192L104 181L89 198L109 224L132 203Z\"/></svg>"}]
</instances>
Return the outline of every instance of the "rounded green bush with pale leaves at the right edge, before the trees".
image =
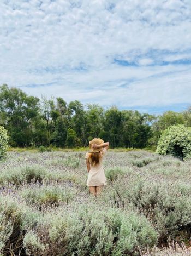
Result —
<instances>
[{"instance_id":1,"label":"rounded green bush with pale leaves at the right edge, before the trees","mask_svg":"<svg viewBox=\"0 0 191 256\"><path fill-rule=\"evenodd\" d=\"M191 127L170 126L162 133L156 153L171 154L181 160L191 158Z\"/></svg>"}]
</instances>

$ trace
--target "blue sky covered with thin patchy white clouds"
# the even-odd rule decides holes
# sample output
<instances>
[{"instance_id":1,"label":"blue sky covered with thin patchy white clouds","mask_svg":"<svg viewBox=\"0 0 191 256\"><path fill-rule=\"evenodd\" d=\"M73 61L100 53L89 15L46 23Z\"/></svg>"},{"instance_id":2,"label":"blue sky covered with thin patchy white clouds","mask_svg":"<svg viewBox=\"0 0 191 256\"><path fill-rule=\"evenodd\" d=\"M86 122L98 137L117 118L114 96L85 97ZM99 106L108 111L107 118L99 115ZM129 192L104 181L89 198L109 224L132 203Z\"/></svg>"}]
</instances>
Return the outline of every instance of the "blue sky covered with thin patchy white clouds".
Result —
<instances>
[{"instance_id":1,"label":"blue sky covered with thin patchy white clouds","mask_svg":"<svg viewBox=\"0 0 191 256\"><path fill-rule=\"evenodd\" d=\"M190 0L1 0L0 81L162 113L191 105Z\"/></svg>"}]
</instances>

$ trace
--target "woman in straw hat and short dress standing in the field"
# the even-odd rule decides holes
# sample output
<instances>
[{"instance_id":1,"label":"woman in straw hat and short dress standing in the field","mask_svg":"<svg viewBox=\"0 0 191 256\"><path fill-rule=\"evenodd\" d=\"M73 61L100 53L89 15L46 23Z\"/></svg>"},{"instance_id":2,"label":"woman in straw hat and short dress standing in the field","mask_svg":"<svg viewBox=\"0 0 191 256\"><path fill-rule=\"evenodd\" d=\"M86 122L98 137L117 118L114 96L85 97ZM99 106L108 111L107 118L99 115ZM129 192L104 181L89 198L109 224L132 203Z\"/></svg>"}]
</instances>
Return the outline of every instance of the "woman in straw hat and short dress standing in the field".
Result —
<instances>
[{"instance_id":1,"label":"woman in straw hat and short dress standing in the field","mask_svg":"<svg viewBox=\"0 0 191 256\"><path fill-rule=\"evenodd\" d=\"M102 139L93 139L89 141L90 152L86 153L86 165L88 170L87 186L89 186L89 192L94 196L97 196L102 186L106 185L106 177L102 165L103 156L106 154L109 142L105 142Z\"/></svg>"}]
</instances>

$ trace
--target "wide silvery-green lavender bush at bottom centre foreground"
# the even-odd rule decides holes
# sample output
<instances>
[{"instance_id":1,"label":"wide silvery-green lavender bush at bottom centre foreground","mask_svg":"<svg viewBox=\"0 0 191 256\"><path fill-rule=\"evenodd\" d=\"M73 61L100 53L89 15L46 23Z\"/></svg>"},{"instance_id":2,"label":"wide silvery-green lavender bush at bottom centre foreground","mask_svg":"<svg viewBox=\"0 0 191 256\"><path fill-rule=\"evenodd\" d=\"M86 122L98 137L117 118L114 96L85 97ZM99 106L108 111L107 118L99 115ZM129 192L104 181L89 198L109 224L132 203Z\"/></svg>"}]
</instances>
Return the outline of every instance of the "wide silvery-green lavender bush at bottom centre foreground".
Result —
<instances>
[{"instance_id":1,"label":"wide silvery-green lavender bush at bottom centre foreground","mask_svg":"<svg viewBox=\"0 0 191 256\"><path fill-rule=\"evenodd\" d=\"M96 208L82 204L47 215L25 236L28 255L138 255L156 244L157 232L144 216Z\"/></svg>"}]
</instances>

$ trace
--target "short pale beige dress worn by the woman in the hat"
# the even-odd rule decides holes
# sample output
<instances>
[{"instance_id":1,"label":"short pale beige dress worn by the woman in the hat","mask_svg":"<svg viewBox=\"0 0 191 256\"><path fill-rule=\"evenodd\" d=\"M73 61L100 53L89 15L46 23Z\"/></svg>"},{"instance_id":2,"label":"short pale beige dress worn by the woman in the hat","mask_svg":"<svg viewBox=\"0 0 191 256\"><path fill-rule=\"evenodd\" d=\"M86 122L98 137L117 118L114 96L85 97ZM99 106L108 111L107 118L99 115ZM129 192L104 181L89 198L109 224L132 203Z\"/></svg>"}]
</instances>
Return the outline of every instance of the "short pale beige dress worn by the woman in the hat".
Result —
<instances>
[{"instance_id":1,"label":"short pale beige dress worn by the woman in the hat","mask_svg":"<svg viewBox=\"0 0 191 256\"><path fill-rule=\"evenodd\" d=\"M102 157L100 157L99 164L97 166L92 166L90 164L90 170L88 173L87 186L104 186L107 184L107 180L105 177L102 161L103 156L106 155L107 150L103 148L101 151ZM86 160L89 158L89 153L86 153Z\"/></svg>"}]
</instances>

